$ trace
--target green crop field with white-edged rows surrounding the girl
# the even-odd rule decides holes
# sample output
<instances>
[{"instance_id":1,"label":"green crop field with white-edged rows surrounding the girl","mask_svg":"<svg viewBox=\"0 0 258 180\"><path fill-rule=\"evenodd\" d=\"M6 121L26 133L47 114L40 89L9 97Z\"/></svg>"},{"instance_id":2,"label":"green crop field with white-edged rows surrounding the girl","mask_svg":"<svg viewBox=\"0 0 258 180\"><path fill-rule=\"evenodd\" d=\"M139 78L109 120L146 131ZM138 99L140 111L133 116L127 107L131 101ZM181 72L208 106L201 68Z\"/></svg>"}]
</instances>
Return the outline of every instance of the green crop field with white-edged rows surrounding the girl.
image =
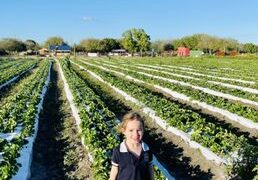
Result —
<instances>
[{"instance_id":1,"label":"green crop field with white-edged rows surrounding the girl","mask_svg":"<svg viewBox=\"0 0 258 180\"><path fill-rule=\"evenodd\" d=\"M0 63L0 179L30 177L38 120L47 114L41 107L61 95L78 129L75 138L83 144L80 153L90 164L88 178L108 179L112 149L122 140L116 127L131 110L145 117L144 141L155 156L155 179L258 177L257 59L76 57ZM44 121L58 119L59 111Z\"/></svg>"}]
</instances>

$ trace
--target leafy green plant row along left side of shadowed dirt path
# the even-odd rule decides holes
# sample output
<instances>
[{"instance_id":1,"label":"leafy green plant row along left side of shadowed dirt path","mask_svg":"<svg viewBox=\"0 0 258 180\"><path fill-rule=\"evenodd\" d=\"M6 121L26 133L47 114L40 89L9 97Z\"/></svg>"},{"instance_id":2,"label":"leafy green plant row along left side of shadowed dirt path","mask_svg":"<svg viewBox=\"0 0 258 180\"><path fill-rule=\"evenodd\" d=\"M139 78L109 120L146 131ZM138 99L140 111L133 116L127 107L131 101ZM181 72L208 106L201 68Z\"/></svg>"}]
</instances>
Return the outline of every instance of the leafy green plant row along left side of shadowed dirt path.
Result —
<instances>
[{"instance_id":1,"label":"leafy green plant row along left side of shadowed dirt path","mask_svg":"<svg viewBox=\"0 0 258 180\"><path fill-rule=\"evenodd\" d=\"M50 64L50 61L42 61L36 72L20 86L20 92L6 97L1 106L0 179L10 179L19 169L16 158L34 132L38 104ZM11 133L15 135L10 137Z\"/></svg>"}]
</instances>

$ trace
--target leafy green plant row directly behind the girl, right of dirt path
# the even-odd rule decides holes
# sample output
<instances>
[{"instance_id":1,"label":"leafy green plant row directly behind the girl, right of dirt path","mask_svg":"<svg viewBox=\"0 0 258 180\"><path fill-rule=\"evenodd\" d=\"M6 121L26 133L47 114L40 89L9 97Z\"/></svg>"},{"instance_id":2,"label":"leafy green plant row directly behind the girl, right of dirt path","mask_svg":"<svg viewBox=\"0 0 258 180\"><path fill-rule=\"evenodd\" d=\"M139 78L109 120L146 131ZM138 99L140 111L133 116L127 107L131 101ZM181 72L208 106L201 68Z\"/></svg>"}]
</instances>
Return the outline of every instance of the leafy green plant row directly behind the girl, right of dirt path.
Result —
<instances>
[{"instance_id":1,"label":"leafy green plant row directly behind the girl, right of dirt path","mask_svg":"<svg viewBox=\"0 0 258 180\"><path fill-rule=\"evenodd\" d=\"M95 179L108 179L111 167L111 151L120 142L115 132L115 115L107 109L87 83L71 68L68 61L61 61L65 78L72 90L79 110L81 128L85 144L93 155L93 174ZM157 179L164 179L158 170Z\"/></svg>"}]
</instances>

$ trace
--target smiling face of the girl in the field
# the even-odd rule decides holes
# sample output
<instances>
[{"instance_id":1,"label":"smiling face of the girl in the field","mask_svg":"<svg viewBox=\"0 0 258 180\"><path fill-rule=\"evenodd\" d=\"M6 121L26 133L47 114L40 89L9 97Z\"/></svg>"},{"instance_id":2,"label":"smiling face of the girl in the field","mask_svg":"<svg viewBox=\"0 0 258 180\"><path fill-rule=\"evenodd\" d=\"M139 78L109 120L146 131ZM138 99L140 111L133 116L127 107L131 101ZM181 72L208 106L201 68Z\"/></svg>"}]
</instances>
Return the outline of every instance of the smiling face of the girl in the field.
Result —
<instances>
[{"instance_id":1,"label":"smiling face of the girl in the field","mask_svg":"<svg viewBox=\"0 0 258 180\"><path fill-rule=\"evenodd\" d=\"M140 121L128 121L126 128L123 131L126 141L132 144L138 144L142 140L143 126Z\"/></svg>"}]
</instances>

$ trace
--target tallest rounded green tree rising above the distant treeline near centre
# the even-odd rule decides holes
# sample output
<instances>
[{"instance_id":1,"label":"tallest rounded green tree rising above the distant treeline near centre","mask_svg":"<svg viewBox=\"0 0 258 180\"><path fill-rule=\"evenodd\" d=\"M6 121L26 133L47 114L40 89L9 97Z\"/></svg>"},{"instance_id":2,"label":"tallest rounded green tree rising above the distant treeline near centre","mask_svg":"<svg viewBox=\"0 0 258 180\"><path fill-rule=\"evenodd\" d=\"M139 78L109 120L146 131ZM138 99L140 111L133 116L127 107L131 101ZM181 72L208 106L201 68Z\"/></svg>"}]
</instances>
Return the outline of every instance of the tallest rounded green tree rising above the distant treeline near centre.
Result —
<instances>
[{"instance_id":1,"label":"tallest rounded green tree rising above the distant treeline near centre","mask_svg":"<svg viewBox=\"0 0 258 180\"><path fill-rule=\"evenodd\" d=\"M150 36L143 29L130 29L122 34L122 45L130 53L144 52L150 49Z\"/></svg>"}]
</instances>

